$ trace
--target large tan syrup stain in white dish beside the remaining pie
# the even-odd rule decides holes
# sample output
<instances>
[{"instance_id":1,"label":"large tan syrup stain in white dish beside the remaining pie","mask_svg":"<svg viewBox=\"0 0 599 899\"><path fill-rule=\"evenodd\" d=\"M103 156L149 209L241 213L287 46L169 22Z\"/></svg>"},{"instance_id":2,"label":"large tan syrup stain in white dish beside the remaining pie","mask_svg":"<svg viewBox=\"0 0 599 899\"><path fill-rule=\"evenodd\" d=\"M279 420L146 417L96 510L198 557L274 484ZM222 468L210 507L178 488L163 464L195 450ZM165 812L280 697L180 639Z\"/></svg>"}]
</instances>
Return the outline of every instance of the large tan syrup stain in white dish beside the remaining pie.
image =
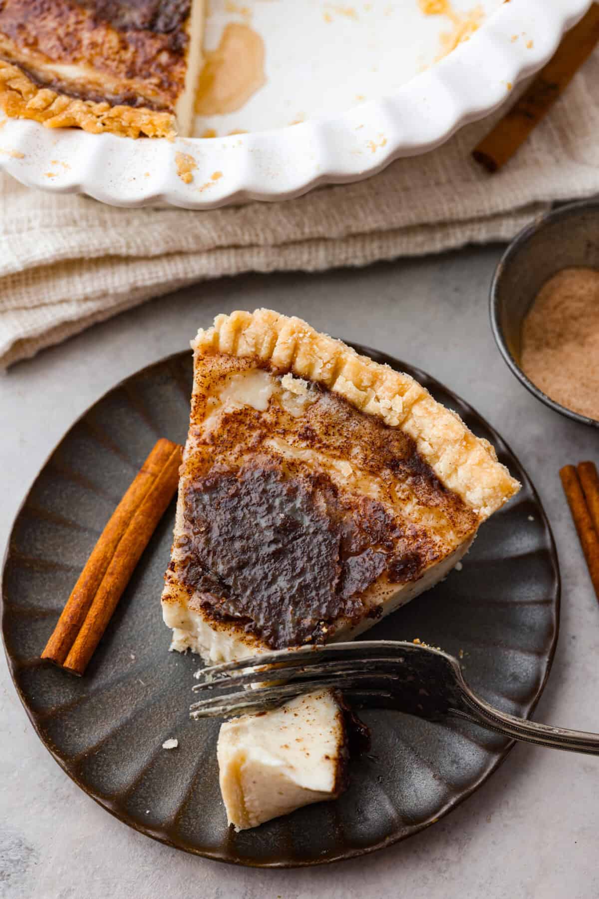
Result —
<instances>
[{"instance_id":1,"label":"large tan syrup stain in white dish beside the remaining pie","mask_svg":"<svg viewBox=\"0 0 599 899\"><path fill-rule=\"evenodd\" d=\"M198 78L196 113L236 112L264 85L264 41L249 25L230 22Z\"/></svg>"}]
</instances>

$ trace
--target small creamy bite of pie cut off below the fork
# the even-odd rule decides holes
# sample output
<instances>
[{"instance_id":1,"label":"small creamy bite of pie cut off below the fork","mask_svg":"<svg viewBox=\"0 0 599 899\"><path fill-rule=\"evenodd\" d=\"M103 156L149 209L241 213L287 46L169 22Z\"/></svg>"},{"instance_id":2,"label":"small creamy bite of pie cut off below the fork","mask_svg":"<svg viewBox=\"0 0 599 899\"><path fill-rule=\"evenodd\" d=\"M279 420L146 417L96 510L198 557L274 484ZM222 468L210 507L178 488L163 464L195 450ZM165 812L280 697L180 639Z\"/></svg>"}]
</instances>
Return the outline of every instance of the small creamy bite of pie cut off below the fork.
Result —
<instances>
[{"instance_id":1,"label":"small creamy bite of pie cut off below the fork","mask_svg":"<svg viewBox=\"0 0 599 899\"><path fill-rule=\"evenodd\" d=\"M348 783L348 723L332 690L221 725L216 754L235 830L335 799Z\"/></svg>"}]
</instances>

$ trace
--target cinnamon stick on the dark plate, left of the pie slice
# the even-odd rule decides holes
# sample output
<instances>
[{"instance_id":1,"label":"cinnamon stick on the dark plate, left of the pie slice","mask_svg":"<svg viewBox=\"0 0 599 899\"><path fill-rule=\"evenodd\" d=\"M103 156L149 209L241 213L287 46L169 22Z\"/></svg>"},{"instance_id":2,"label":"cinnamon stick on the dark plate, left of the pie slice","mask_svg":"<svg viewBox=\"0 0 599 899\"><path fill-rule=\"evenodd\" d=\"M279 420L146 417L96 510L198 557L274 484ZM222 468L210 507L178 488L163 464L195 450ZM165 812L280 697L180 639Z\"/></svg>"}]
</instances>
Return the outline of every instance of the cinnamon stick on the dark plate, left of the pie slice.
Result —
<instances>
[{"instance_id":1,"label":"cinnamon stick on the dark plate, left of the pie slice","mask_svg":"<svg viewBox=\"0 0 599 899\"><path fill-rule=\"evenodd\" d=\"M177 489L181 447L162 439L112 513L42 659L83 674L122 592Z\"/></svg>"}]
</instances>

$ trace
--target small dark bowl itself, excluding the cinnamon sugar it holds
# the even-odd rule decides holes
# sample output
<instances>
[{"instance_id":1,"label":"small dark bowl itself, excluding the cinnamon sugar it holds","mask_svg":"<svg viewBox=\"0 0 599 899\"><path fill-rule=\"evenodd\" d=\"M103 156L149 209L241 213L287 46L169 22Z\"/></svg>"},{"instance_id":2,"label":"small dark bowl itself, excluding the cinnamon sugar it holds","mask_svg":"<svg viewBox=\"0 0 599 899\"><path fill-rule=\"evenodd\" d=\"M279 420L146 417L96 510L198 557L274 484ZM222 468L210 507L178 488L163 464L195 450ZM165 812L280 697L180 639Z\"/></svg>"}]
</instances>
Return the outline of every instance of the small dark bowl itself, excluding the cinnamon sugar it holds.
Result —
<instances>
[{"instance_id":1,"label":"small dark bowl itself, excluding the cinnamon sugar it holds","mask_svg":"<svg viewBox=\"0 0 599 899\"><path fill-rule=\"evenodd\" d=\"M599 428L599 421L556 403L520 368L522 323L545 281L565 268L599 270L599 200L582 200L535 219L515 236L491 281L490 316L499 351L524 387L555 412Z\"/></svg>"}]
</instances>

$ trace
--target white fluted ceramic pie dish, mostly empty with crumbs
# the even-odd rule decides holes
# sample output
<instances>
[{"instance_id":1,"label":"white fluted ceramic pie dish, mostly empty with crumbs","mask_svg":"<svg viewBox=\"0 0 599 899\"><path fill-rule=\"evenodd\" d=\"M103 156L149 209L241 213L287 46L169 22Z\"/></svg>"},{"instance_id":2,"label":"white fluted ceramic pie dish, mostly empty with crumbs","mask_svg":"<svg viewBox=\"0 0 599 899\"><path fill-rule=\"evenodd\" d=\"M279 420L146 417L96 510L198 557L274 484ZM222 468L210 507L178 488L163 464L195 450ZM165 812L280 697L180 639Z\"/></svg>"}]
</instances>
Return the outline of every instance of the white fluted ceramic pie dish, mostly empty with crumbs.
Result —
<instances>
[{"instance_id":1,"label":"white fluted ceramic pie dish, mostly empty with crumbs","mask_svg":"<svg viewBox=\"0 0 599 899\"><path fill-rule=\"evenodd\" d=\"M3 118L0 169L124 207L213 209L358 181L505 102L590 0L460 0L451 17L424 15L417 0L212 6L208 49L227 22L250 21L266 60L265 85L242 109L198 118L196 132L217 137L133 140ZM436 61L469 22L469 40Z\"/></svg>"}]
</instances>

